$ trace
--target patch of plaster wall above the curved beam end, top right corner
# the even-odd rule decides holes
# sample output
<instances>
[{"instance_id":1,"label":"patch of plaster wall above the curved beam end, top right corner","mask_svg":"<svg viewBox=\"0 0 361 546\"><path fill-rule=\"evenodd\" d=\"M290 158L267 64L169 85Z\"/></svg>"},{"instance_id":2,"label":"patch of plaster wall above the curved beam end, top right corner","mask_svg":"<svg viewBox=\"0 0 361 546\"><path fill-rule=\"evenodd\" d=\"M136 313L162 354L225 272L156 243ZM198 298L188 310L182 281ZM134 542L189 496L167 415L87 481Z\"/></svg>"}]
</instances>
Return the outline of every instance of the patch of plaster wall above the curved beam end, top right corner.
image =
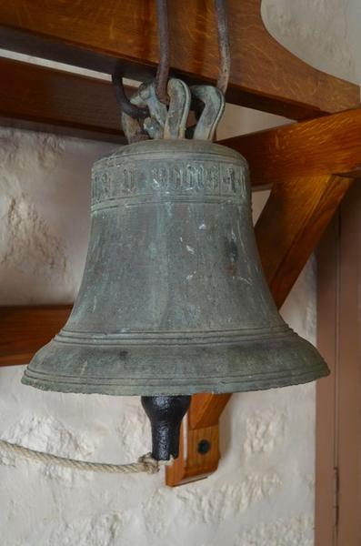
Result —
<instances>
[{"instance_id":1,"label":"patch of plaster wall above the curved beam end, top right corner","mask_svg":"<svg viewBox=\"0 0 361 546\"><path fill-rule=\"evenodd\" d=\"M306 63L359 82L359 0L263 0L270 34Z\"/></svg>"}]
</instances>

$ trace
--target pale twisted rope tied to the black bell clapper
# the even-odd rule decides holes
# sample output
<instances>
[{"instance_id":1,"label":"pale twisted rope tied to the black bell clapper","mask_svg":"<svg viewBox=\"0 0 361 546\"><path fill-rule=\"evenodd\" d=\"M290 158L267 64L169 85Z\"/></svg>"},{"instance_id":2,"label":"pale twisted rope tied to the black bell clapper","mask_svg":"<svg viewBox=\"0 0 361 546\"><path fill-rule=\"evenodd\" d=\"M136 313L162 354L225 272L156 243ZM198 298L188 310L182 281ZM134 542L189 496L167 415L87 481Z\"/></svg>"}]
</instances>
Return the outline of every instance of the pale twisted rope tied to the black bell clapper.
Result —
<instances>
[{"instance_id":1,"label":"pale twisted rope tied to the black bell clapper","mask_svg":"<svg viewBox=\"0 0 361 546\"><path fill-rule=\"evenodd\" d=\"M44 451L31 450L24 446L13 444L6 440L0 440L0 449L11 455L18 455L23 459L36 460L37 462L53 463L65 469L72 470L88 470L91 472L108 472L111 474L136 474L146 472L147 474L155 474L161 466L168 466L173 463L173 460L156 460L152 457L152 453L146 453L139 457L137 462L128 464L108 464L105 462L91 462L88 460L67 459L59 457L52 453Z\"/></svg>"}]
</instances>

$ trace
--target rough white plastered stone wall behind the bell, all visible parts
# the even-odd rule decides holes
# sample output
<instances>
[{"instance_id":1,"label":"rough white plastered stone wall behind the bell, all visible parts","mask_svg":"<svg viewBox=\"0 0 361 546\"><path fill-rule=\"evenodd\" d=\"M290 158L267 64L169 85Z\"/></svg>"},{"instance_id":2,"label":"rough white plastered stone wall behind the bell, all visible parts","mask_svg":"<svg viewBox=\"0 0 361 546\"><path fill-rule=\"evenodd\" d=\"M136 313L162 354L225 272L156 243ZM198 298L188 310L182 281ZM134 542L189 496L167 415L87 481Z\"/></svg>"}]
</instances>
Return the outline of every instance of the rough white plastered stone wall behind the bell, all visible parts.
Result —
<instances>
[{"instance_id":1,"label":"rough white plastered stone wall behind the bell, all visible parts","mask_svg":"<svg viewBox=\"0 0 361 546\"><path fill-rule=\"evenodd\" d=\"M263 11L295 53L361 80L356 34L346 30L350 4L264 0ZM229 106L219 136L281 122ZM90 166L111 148L0 130L0 304L73 300L85 260ZM264 201L256 194L256 213ZM282 310L312 342L314 269L311 260ZM0 437L89 460L125 462L149 450L138 399L41 392L21 385L22 373L0 369ZM166 488L162 474L80 474L0 452L0 544L312 546L315 386L235 395L221 435L217 472L177 489Z\"/></svg>"}]
</instances>

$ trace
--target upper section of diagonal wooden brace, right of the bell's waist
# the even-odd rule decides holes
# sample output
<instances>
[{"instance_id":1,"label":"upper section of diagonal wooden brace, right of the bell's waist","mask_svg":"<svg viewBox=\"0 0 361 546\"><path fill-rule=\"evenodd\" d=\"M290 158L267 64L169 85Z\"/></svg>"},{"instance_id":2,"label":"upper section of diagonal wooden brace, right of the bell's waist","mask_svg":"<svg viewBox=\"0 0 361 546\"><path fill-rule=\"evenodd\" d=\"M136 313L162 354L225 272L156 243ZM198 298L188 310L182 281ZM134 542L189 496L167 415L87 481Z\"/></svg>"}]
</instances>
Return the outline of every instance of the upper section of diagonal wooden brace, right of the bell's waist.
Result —
<instances>
[{"instance_id":1,"label":"upper section of diagonal wooden brace, right of the bell's waist","mask_svg":"<svg viewBox=\"0 0 361 546\"><path fill-rule=\"evenodd\" d=\"M278 308L352 181L323 175L291 178L272 187L255 230L262 267Z\"/></svg>"}]
</instances>

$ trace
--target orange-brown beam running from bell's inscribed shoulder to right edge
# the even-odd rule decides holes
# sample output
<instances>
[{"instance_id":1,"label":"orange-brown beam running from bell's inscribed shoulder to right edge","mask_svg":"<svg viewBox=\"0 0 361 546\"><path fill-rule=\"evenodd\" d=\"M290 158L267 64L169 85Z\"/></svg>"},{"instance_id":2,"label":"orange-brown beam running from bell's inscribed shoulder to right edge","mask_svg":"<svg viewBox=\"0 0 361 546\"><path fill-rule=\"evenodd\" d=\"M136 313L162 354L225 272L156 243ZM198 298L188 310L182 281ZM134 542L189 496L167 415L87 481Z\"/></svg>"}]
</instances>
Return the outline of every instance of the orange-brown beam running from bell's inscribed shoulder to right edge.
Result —
<instances>
[{"instance_id":1,"label":"orange-brown beam running from bell's inscribed shoulder to right edge","mask_svg":"<svg viewBox=\"0 0 361 546\"><path fill-rule=\"evenodd\" d=\"M219 144L246 157L256 186L292 177L361 177L361 108L227 138Z\"/></svg>"}]
</instances>

